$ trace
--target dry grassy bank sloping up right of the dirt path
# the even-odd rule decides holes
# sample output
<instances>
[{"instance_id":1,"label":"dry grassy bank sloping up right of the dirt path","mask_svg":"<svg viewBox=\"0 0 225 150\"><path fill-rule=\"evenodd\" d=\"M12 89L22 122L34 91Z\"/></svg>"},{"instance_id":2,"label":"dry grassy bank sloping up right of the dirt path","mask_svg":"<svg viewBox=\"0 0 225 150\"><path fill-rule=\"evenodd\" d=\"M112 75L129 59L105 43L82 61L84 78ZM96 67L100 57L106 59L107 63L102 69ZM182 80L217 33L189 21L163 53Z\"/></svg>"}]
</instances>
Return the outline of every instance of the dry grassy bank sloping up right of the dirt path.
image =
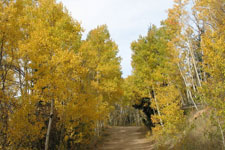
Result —
<instances>
[{"instance_id":1,"label":"dry grassy bank sloping up right of the dirt path","mask_svg":"<svg viewBox=\"0 0 225 150\"><path fill-rule=\"evenodd\" d=\"M177 140L167 140L157 146L158 150L222 150L221 137L217 127L212 124L208 108L198 112L191 111L187 125ZM166 138L166 137L162 137Z\"/></svg>"}]
</instances>

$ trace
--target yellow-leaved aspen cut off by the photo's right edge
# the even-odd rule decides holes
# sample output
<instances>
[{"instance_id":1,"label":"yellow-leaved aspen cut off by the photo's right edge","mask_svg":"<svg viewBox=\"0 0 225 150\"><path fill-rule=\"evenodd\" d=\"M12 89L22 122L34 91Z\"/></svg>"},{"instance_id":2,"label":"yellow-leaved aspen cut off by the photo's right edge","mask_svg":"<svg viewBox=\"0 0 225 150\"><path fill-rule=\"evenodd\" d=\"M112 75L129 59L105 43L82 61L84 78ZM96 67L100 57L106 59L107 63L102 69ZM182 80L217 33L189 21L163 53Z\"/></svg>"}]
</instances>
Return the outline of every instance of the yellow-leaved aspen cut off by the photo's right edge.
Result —
<instances>
[{"instance_id":1,"label":"yellow-leaved aspen cut off by the photo's right edge","mask_svg":"<svg viewBox=\"0 0 225 150\"><path fill-rule=\"evenodd\" d=\"M202 35L201 49L203 69L206 80L203 82L202 94L207 104L214 112L212 122L215 122L221 135L221 143L225 148L224 116L225 116L225 2L223 0L195 1L195 11L200 20L205 22L205 32Z\"/></svg>"}]
</instances>

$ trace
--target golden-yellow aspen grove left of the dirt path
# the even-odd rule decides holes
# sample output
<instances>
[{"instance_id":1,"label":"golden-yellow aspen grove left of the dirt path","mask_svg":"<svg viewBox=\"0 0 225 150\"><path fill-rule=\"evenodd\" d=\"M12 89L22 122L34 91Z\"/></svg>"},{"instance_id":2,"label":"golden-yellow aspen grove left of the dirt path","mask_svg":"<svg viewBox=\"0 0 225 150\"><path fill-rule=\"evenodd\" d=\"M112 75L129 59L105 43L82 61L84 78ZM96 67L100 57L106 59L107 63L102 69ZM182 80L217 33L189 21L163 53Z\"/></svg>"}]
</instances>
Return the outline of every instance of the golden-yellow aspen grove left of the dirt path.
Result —
<instances>
[{"instance_id":1,"label":"golden-yellow aspen grove left of the dirt path","mask_svg":"<svg viewBox=\"0 0 225 150\"><path fill-rule=\"evenodd\" d=\"M75 149L121 91L107 26L83 29L55 0L0 1L0 149Z\"/></svg>"}]
</instances>

